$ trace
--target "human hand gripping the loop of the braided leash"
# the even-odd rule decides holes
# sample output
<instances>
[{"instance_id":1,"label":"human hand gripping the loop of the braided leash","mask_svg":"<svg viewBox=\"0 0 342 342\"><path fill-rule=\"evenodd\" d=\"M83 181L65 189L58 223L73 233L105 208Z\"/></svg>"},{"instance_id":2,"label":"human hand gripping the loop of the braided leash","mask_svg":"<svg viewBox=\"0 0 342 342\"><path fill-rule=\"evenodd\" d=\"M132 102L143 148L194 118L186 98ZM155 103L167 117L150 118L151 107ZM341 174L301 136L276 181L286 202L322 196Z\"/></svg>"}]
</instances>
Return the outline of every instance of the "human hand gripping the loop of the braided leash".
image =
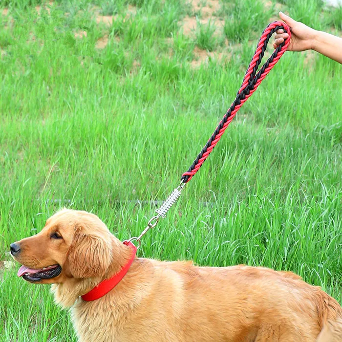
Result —
<instances>
[{"instance_id":1,"label":"human hand gripping the loop of the braided leash","mask_svg":"<svg viewBox=\"0 0 342 342\"><path fill-rule=\"evenodd\" d=\"M304 25L302 22L298 22L287 16L286 14L279 12L280 19L286 22L291 29L291 41L287 48L288 51L304 51L313 48L315 40L316 30ZM276 49L278 45L284 42L289 37L288 33L279 29L276 32L275 42L273 44Z\"/></svg>"}]
</instances>

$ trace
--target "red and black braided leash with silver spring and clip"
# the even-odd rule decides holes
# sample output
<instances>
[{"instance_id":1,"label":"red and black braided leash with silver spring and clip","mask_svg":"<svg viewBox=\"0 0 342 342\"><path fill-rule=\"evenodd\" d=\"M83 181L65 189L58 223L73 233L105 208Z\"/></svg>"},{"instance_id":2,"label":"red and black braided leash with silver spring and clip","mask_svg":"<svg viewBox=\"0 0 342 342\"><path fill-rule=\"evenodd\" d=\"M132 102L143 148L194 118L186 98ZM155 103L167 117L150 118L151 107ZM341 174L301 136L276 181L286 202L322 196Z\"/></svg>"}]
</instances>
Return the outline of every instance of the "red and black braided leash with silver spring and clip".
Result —
<instances>
[{"instance_id":1,"label":"red and black braided leash with silver spring and clip","mask_svg":"<svg viewBox=\"0 0 342 342\"><path fill-rule=\"evenodd\" d=\"M271 39L271 36L279 29L283 29L284 32L287 32L289 37L283 43L278 45L278 47L273 51L269 59L262 65L260 70L256 73L261 63L261 60L265 54L267 43ZM208 158L209 154L212 152L212 150L220 140L228 125L233 121L237 111L256 91L258 85L267 76L267 74L271 71L274 65L279 61L280 57L287 50L287 47L290 43L290 39L290 28L286 23L282 21L274 21L265 28L257 44L256 52L252 58L252 61L248 66L242 85L239 91L237 92L236 98L232 103L231 107L227 110L226 114L224 115L221 122L218 124L217 128L208 140L207 144L204 146L201 152L197 155L196 159L193 161L192 166L189 168L187 172L184 172L182 174L181 183L178 186L178 188L174 189L173 192L171 192L170 196L162 204L162 206L156 210L157 215L153 216L150 219L145 230L138 237L131 237L129 241L137 241L140 246L142 236L145 235L149 229L154 228L157 225L160 217L165 217L166 213L170 210L171 206L179 198L184 186L192 179L192 177L196 174L196 172L200 169L205 160Z\"/></svg>"}]
</instances>

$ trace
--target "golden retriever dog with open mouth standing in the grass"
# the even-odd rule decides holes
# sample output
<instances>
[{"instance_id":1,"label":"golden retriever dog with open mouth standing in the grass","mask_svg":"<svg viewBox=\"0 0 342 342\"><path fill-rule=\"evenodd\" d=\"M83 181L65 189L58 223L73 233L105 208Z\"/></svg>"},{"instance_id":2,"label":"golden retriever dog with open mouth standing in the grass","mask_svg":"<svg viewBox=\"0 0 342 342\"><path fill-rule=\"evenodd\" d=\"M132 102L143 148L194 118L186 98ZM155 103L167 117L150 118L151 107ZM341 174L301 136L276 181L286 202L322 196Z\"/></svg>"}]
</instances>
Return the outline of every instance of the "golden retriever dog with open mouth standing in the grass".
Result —
<instances>
[{"instance_id":1,"label":"golden retriever dog with open mouth standing in the grass","mask_svg":"<svg viewBox=\"0 0 342 342\"><path fill-rule=\"evenodd\" d=\"M94 214L63 209L12 243L18 275L52 284L86 342L342 342L342 308L320 287L263 267L132 257ZM81 296L132 263L106 295ZM101 286L101 285L100 285Z\"/></svg>"}]
</instances>

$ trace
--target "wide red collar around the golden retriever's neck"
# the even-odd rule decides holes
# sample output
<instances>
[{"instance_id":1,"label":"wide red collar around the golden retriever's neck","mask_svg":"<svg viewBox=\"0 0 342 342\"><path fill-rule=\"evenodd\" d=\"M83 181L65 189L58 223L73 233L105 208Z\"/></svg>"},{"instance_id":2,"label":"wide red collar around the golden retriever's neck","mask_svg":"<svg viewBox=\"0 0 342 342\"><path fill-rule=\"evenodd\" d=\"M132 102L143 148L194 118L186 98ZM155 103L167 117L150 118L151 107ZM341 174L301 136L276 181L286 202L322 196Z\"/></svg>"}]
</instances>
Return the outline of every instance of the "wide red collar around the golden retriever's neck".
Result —
<instances>
[{"instance_id":1,"label":"wide red collar around the golden retriever's neck","mask_svg":"<svg viewBox=\"0 0 342 342\"><path fill-rule=\"evenodd\" d=\"M101 281L99 285L95 286L88 293L81 296L83 300L92 301L92 300L99 299L105 296L110 290L112 290L122 280L122 278L125 277L126 273L129 270L129 267L131 266L135 258L135 255L137 253L137 248L131 242L124 241L123 243L132 249L132 256L128 260L127 264L120 270L120 272L115 274L112 278Z\"/></svg>"}]
</instances>

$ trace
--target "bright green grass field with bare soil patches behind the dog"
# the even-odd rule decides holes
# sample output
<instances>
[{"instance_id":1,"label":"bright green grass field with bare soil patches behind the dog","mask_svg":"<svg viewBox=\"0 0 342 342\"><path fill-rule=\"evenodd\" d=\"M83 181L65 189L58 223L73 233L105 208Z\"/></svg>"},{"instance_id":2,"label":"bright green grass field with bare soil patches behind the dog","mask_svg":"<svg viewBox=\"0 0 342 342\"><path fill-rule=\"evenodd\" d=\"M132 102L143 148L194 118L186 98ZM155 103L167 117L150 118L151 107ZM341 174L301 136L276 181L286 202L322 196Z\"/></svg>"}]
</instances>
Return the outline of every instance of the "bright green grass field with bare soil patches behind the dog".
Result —
<instances>
[{"instance_id":1,"label":"bright green grass field with bare soil patches behind the dog","mask_svg":"<svg viewBox=\"0 0 342 342\"><path fill-rule=\"evenodd\" d=\"M0 6L0 340L75 341L49 287L4 267L9 244L63 206L97 214L120 239L137 235L230 106L278 10L337 35L342 10L320 0ZM285 53L140 256L291 270L341 303L341 84L340 64Z\"/></svg>"}]
</instances>

